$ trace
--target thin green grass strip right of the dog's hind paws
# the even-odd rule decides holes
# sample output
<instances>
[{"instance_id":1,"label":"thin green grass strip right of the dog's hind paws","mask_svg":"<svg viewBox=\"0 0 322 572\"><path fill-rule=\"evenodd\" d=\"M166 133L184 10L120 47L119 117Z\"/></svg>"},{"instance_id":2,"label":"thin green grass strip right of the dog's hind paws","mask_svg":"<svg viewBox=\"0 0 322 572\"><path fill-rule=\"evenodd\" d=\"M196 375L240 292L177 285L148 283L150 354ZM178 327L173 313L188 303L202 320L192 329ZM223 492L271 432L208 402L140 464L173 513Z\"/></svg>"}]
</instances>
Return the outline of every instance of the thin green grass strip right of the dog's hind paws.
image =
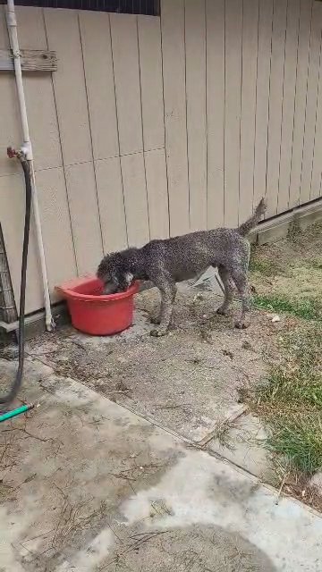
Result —
<instances>
[{"instance_id":1,"label":"thin green grass strip right of the dog's hind paws","mask_svg":"<svg viewBox=\"0 0 322 572\"><path fill-rule=\"evenodd\" d=\"M282 294L256 294L254 303L256 306L271 312L284 312L305 320L320 320L322 318L322 303L316 298L289 299Z\"/></svg>"}]
</instances>

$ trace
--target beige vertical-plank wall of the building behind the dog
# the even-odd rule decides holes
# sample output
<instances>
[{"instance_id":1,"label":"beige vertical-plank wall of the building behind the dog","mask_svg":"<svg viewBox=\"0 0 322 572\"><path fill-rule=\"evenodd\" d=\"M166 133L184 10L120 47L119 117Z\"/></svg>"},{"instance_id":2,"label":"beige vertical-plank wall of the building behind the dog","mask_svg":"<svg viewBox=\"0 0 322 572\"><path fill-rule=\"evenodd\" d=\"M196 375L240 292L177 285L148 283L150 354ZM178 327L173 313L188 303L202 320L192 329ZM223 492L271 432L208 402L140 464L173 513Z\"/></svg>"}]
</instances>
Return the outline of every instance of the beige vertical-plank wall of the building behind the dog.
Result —
<instances>
[{"instance_id":1,"label":"beige vertical-plank wall of the building behind the dog","mask_svg":"<svg viewBox=\"0 0 322 572\"><path fill-rule=\"evenodd\" d=\"M9 46L0 6L0 48ZM161 18L17 8L21 48L55 50L25 74L48 278L104 252L234 226L321 197L322 3L161 0ZM0 74L0 216L18 302L23 185L5 158L21 127ZM29 311L42 307L31 233Z\"/></svg>"}]
</instances>

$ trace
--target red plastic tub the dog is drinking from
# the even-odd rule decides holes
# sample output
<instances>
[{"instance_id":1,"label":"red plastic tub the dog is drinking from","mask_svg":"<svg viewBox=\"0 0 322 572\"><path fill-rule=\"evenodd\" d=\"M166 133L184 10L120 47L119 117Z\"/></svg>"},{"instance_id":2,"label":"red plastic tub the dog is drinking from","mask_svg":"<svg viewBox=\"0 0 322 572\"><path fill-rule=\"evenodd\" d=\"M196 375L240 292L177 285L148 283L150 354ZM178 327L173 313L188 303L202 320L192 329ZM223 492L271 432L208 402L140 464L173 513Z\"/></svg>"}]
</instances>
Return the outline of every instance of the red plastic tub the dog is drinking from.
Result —
<instances>
[{"instance_id":1,"label":"red plastic tub the dog is drinking from","mask_svg":"<svg viewBox=\"0 0 322 572\"><path fill-rule=\"evenodd\" d=\"M66 299L72 325L80 332L108 336L132 324L133 296L139 290L136 282L126 292L102 295L102 282L87 276L64 282L56 290Z\"/></svg>"}]
</instances>

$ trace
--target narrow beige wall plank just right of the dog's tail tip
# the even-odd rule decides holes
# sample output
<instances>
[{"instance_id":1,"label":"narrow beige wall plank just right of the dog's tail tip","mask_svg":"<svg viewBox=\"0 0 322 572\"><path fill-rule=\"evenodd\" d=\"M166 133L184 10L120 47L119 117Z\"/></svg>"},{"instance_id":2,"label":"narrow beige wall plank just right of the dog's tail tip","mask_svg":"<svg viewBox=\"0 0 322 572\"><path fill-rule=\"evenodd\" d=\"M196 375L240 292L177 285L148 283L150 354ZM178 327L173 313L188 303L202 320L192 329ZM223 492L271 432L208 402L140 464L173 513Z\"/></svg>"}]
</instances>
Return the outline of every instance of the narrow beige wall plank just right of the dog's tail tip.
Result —
<instances>
[{"instance_id":1,"label":"narrow beige wall plank just right of the dog's tail tip","mask_svg":"<svg viewBox=\"0 0 322 572\"><path fill-rule=\"evenodd\" d=\"M281 156L286 7L287 0L274 0L267 142L267 217L276 214L277 211Z\"/></svg>"}]
</instances>

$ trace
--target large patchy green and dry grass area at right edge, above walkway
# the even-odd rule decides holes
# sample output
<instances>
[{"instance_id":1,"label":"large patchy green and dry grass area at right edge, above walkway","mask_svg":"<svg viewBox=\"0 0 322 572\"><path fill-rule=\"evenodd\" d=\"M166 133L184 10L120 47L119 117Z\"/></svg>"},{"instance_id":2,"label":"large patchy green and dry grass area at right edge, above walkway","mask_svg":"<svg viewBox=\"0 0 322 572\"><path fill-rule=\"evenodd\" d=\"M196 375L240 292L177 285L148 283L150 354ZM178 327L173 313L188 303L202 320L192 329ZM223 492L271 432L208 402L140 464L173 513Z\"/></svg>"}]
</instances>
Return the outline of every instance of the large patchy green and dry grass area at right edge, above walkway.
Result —
<instances>
[{"instance_id":1,"label":"large patchy green and dry grass area at right edge, above walkway","mask_svg":"<svg viewBox=\"0 0 322 572\"><path fill-rule=\"evenodd\" d=\"M282 343L283 362L243 396L269 427L267 449L292 471L312 475L322 467L322 324L290 332Z\"/></svg>"}]
</instances>

